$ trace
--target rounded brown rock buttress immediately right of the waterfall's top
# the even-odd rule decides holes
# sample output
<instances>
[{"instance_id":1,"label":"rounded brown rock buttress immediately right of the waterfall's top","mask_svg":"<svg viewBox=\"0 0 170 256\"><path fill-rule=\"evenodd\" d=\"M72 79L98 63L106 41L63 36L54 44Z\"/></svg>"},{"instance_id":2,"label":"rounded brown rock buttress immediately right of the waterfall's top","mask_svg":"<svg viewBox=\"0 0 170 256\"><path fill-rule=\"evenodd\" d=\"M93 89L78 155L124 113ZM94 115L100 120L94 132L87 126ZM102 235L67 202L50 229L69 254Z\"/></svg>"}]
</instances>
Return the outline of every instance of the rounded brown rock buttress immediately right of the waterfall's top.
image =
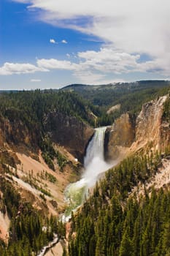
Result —
<instances>
[{"instance_id":1,"label":"rounded brown rock buttress immediately right of the waterfall's top","mask_svg":"<svg viewBox=\"0 0 170 256\"><path fill-rule=\"evenodd\" d=\"M134 141L134 124L128 113L117 118L112 127L108 127L105 135L104 147L106 159L123 157L127 148Z\"/></svg>"}]
</instances>

